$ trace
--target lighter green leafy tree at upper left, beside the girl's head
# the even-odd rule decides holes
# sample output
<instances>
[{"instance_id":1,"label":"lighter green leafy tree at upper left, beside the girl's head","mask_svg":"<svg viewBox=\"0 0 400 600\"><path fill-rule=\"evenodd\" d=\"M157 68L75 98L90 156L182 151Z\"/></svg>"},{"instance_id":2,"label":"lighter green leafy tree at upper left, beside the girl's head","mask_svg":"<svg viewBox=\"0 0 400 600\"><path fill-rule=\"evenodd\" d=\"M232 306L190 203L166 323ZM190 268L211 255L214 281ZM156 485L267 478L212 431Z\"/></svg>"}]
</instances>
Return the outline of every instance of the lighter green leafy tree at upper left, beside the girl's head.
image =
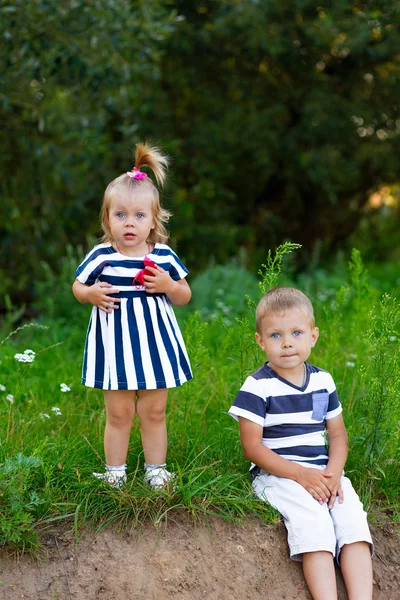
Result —
<instances>
[{"instance_id":1,"label":"lighter green leafy tree at upper left, beside the girl's head","mask_svg":"<svg viewBox=\"0 0 400 600\"><path fill-rule=\"evenodd\" d=\"M32 299L41 261L98 232L106 183L159 88L164 2L5 2L0 8L0 298Z\"/></svg>"}]
</instances>

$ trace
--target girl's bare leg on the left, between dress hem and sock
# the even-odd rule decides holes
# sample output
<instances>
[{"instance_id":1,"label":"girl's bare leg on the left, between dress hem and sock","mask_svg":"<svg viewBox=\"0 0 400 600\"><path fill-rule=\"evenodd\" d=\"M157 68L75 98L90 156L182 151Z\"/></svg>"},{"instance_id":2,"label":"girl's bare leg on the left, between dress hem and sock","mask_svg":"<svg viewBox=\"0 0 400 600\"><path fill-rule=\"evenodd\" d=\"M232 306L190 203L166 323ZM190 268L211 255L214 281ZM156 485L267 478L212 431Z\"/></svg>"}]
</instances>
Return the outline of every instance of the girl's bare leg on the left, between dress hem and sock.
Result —
<instances>
[{"instance_id":1,"label":"girl's bare leg on the left, between dress hem and sock","mask_svg":"<svg viewBox=\"0 0 400 600\"><path fill-rule=\"evenodd\" d=\"M131 390L104 391L107 422L104 431L106 464L123 465L128 454L129 436L135 417L135 396Z\"/></svg>"}]
</instances>

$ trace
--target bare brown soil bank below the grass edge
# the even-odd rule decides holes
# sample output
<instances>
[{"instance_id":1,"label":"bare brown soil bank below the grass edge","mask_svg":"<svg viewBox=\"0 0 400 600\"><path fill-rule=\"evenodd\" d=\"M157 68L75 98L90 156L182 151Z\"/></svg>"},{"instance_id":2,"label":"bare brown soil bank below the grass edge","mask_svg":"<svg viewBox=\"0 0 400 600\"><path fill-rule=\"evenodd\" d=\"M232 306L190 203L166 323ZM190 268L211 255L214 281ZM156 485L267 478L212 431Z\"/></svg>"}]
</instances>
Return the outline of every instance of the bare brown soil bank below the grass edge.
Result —
<instances>
[{"instance_id":1,"label":"bare brown soil bank below the grass edge","mask_svg":"<svg viewBox=\"0 0 400 600\"><path fill-rule=\"evenodd\" d=\"M374 599L400 599L400 535L371 526ZM43 537L34 558L0 553L2 600L310 600L301 565L288 557L283 524L257 519L194 525L174 515L158 528L73 532ZM338 598L347 599L337 572Z\"/></svg>"}]
</instances>

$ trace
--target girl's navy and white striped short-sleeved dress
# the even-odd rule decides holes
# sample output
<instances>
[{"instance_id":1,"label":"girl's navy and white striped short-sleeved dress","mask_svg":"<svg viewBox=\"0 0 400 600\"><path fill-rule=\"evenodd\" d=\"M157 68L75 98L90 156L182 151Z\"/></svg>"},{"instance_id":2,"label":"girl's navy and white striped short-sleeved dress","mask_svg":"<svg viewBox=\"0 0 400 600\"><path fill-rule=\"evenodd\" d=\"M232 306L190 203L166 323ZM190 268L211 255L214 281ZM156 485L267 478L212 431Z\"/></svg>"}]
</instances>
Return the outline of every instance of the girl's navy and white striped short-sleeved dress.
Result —
<instances>
[{"instance_id":1,"label":"girl's navy and white striped short-sleeved dress","mask_svg":"<svg viewBox=\"0 0 400 600\"><path fill-rule=\"evenodd\" d=\"M166 244L147 255L178 281L187 268ZM104 390L152 390L182 385L192 378L190 362L170 301L133 284L143 257L117 252L110 243L95 246L76 270L86 285L111 283L120 307L105 313L96 306L86 336L82 383ZM110 295L110 297L113 297Z\"/></svg>"}]
</instances>

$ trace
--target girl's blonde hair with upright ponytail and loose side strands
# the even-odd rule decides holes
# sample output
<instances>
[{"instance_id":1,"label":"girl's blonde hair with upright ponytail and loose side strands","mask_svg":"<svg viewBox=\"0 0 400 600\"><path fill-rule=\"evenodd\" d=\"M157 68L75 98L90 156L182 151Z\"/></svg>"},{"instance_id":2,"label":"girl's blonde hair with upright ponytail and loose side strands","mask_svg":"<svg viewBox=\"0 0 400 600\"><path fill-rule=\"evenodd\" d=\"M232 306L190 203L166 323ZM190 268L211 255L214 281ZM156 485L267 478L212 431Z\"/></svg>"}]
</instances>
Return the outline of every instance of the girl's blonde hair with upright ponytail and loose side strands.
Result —
<instances>
[{"instance_id":1,"label":"girl's blonde hair with upright ponytail and loose side strands","mask_svg":"<svg viewBox=\"0 0 400 600\"><path fill-rule=\"evenodd\" d=\"M157 184L161 188L165 182L169 158L158 148L148 142L140 142L135 148L135 168L149 167L156 178ZM113 198L116 196L138 196L139 194L150 195L152 200L152 212L154 228L151 229L148 242L155 244L157 242L165 243L169 238L169 233L164 225L169 221L171 213L161 206L160 195L157 187L150 177L144 179L134 179L127 173L120 175L108 184L104 192L103 203L100 210L100 223L103 229L102 242L112 242L109 211Z\"/></svg>"}]
</instances>

